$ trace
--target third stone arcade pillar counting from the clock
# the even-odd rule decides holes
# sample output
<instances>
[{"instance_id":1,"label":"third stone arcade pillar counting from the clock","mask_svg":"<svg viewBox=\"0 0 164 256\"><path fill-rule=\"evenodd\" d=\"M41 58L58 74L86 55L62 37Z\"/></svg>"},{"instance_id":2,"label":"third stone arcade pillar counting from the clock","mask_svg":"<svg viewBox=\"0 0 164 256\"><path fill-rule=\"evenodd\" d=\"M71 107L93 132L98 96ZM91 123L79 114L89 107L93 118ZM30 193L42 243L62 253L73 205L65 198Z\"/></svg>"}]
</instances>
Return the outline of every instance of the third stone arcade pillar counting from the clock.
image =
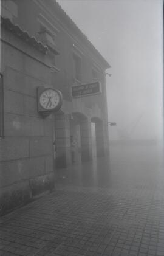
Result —
<instances>
[{"instance_id":1,"label":"third stone arcade pillar counting from the clock","mask_svg":"<svg viewBox=\"0 0 164 256\"><path fill-rule=\"evenodd\" d=\"M103 123L95 123L95 136L96 136L96 145L97 145L97 156L104 156L104 132L103 132Z\"/></svg>"}]
</instances>

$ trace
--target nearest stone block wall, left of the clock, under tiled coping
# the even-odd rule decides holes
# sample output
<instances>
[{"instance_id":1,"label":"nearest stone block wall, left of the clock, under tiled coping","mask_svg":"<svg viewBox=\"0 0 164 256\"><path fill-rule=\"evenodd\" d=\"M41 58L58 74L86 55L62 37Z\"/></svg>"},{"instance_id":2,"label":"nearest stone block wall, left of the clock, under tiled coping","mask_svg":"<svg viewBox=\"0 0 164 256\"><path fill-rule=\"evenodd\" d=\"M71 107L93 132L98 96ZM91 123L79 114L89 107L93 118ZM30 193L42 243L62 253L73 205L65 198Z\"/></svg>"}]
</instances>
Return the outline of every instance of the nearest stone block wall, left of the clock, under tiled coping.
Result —
<instances>
[{"instance_id":1,"label":"nearest stone block wall, left of the clock, under tiled coping","mask_svg":"<svg viewBox=\"0 0 164 256\"><path fill-rule=\"evenodd\" d=\"M44 55L4 32L1 73L4 79L4 138L0 139L0 214L52 190L53 118L37 110L37 87L50 86ZM10 38L10 45L5 43ZM26 52L19 49L26 44ZM12 45L13 44L13 45Z\"/></svg>"}]
</instances>

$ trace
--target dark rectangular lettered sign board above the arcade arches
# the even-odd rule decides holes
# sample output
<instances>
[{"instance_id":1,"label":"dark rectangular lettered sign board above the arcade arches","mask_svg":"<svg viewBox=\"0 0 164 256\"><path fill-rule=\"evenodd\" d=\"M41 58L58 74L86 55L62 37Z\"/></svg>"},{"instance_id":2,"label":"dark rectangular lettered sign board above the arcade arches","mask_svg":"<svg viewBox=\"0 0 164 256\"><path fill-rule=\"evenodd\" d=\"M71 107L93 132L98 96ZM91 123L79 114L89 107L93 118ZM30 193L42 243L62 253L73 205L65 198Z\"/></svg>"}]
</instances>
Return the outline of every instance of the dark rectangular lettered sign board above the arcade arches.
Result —
<instances>
[{"instance_id":1,"label":"dark rectangular lettered sign board above the arcade arches","mask_svg":"<svg viewBox=\"0 0 164 256\"><path fill-rule=\"evenodd\" d=\"M84 97L101 93L102 91L100 81L86 83L84 85L75 85L71 87L72 97Z\"/></svg>"}]
</instances>

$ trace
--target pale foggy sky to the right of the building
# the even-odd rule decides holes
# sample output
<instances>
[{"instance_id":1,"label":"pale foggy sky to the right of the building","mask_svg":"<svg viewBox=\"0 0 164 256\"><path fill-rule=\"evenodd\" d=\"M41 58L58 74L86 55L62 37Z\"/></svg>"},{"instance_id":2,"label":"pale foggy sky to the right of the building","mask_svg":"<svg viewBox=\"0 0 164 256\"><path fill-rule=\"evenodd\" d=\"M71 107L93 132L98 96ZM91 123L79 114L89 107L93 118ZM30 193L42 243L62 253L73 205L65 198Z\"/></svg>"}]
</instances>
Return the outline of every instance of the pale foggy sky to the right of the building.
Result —
<instances>
[{"instance_id":1,"label":"pale foggy sky to the right of the building","mask_svg":"<svg viewBox=\"0 0 164 256\"><path fill-rule=\"evenodd\" d=\"M109 140L163 141L163 1L58 0L111 65Z\"/></svg>"}]
</instances>

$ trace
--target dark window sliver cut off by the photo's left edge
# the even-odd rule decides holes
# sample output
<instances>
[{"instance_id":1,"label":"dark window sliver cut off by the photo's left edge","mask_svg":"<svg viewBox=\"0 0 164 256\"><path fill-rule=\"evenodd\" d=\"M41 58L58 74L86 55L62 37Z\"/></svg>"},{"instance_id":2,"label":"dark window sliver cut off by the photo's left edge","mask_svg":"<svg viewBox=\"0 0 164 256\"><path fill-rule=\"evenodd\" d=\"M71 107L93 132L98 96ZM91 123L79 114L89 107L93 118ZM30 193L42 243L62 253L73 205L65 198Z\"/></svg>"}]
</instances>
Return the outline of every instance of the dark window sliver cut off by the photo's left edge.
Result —
<instances>
[{"instance_id":1,"label":"dark window sliver cut off by the photo's left edge","mask_svg":"<svg viewBox=\"0 0 164 256\"><path fill-rule=\"evenodd\" d=\"M0 137L4 137L4 91L3 76L0 75Z\"/></svg>"}]
</instances>

